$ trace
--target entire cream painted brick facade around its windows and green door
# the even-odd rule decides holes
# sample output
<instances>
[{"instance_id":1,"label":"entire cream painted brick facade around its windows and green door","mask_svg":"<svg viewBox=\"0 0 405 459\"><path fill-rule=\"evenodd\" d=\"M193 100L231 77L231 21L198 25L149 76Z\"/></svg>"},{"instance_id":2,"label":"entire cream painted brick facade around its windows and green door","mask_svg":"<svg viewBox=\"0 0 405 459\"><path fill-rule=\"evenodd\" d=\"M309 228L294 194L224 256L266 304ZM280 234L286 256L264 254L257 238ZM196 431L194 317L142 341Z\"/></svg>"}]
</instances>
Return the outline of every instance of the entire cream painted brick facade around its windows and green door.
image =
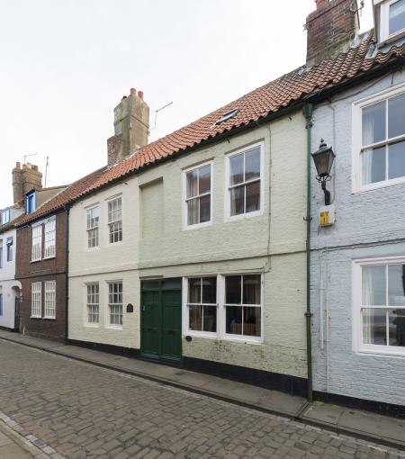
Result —
<instances>
[{"instance_id":1,"label":"entire cream painted brick facade around its windows and green door","mask_svg":"<svg viewBox=\"0 0 405 459\"><path fill-rule=\"evenodd\" d=\"M225 216L226 155L260 141L264 144L263 212L229 221ZM206 161L213 164L212 224L184 229L184 169ZM296 112L152 167L126 184L77 202L70 212L69 338L139 347L138 276L255 272L264 279L263 342L252 344L220 335L193 337L191 342L184 339L183 354L305 377L305 174L305 122L302 113ZM116 193L122 193L124 241L109 247L105 199ZM100 228L105 236L100 248L88 250L85 209L96 202L102 204ZM123 279L124 305L134 304L134 313L124 313L122 330L85 327L85 283L98 280L102 285L118 278Z\"/></svg>"}]
</instances>

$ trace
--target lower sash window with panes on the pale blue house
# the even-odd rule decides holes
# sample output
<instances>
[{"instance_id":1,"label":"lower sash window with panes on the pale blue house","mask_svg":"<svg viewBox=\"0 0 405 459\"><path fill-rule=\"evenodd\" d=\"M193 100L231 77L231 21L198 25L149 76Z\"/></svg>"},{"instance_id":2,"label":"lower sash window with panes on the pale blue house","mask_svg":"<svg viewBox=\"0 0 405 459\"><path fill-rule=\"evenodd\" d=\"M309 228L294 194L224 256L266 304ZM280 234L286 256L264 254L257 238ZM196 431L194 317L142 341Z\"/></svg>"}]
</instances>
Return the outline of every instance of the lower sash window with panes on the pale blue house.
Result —
<instances>
[{"instance_id":1,"label":"lower sash window with panes on the pale blue house","mask_svg":"<svg viewBox=\"0 0 405 459\"><path fill-rule=\"evenodd\" d=\"M356 262L359 350L405 354L405 259Z\"/></svg>"}]
</instances>

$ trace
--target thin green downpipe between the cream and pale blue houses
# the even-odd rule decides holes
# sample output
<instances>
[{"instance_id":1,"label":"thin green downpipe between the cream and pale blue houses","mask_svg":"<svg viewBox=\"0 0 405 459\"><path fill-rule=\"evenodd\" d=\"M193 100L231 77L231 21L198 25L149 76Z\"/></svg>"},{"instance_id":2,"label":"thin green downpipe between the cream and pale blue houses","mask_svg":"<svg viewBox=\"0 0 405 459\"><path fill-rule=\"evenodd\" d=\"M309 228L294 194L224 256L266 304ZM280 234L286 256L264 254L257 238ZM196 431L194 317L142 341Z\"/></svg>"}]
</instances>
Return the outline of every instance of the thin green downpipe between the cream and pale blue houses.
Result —
<instances>
[{"instance_id":1,"label":"thin green downpipe between the cream and pale blue houses","mask_svg":"<svg viewBox=\"0 0 405 459\"><path fill-rule=\"evenodd\" d=\"M305 311L307 329L307 400L312 401L312 337L311 337L311 128L312 128L313 106L307 103L302 107L302 114L305 117L305 129L307 130L307 310Z\"/></svg>"}]
</instances>

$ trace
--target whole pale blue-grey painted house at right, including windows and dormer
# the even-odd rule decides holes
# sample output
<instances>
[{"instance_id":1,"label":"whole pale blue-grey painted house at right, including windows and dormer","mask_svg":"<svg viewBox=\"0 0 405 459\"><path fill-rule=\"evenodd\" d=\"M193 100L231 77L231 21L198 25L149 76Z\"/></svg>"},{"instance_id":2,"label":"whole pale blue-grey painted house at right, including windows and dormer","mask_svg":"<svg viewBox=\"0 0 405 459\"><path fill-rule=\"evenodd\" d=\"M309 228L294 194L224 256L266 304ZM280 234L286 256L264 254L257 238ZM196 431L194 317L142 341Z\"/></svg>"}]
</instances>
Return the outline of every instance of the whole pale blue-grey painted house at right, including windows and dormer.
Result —
<instances>
[{"instance_id":1,"label":"whole pale blue-grey painted house at right, including windows and dormer","mask_svg":"<svg viewBox=\"0 0 405 459\"><path fill-rule=\"evenodd\" d=\"M403 416L405 0L374 0L374 18L375 34L360 46L368 67L380 62L386 71L313 113L312 152L324 139L336 154L330 207L311 170L314 390L322 400Z\"/></svg>"}]
</instances>

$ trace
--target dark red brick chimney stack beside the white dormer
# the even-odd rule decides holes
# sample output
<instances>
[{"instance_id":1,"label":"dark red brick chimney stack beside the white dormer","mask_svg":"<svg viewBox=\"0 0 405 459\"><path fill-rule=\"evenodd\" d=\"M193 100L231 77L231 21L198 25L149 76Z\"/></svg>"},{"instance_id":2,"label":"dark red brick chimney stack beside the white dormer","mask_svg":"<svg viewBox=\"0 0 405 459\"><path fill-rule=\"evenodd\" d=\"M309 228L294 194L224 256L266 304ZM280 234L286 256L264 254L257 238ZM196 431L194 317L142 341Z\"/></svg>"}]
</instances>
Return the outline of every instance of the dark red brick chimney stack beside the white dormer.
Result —
<instances>
[{"instance_id":1,"label":"dark red brick chimney stack beside the white dormer","mask_svg":"<svg viewBox=\"0 0 405 459\"><path fill-rule=\"evenodd\" d=\"M357 0L315 0L308 15L307 67L346 52L359 30Z\"/></svg>"}]
</instances>

